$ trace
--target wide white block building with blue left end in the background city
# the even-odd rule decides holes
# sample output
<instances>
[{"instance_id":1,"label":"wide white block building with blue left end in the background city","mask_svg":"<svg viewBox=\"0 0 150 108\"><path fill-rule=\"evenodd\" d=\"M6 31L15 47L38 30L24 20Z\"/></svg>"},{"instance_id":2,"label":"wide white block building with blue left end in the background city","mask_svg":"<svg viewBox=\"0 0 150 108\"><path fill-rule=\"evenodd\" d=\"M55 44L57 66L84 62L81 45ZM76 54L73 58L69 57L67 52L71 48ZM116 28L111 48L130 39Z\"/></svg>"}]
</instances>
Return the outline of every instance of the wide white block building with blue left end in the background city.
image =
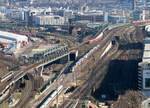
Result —
<instances>
[{"instance_id":1,"label":"wide white block building with blue left end in the background city","mask_svg":"<svg viewBox=\"0 0 150 108\"><path fill-rule=\"evenodd\" d=\"M38 25L64 25L65 18L58 15L39 15L34 17Z\"/></svg>"}]
</instances>

